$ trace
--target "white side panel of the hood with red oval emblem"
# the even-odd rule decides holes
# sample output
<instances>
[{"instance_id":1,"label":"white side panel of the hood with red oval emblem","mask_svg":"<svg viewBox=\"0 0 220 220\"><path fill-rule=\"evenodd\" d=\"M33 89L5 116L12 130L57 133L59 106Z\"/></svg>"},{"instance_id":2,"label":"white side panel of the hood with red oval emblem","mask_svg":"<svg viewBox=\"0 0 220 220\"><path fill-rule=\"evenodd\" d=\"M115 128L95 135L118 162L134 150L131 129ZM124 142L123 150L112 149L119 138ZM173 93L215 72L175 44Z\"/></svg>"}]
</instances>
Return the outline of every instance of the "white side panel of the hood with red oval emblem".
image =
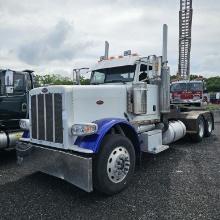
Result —
<instances>
[{"instance_id":1,"label":"white side panel of the hood with red oval emblem","mask_svg":"<svg viewBox=\"0 0 220 220\"><path fill-rule=\"evenodd\" d=\"M126 85L88 85L73 87L74 123L102 118L124 118Z\"/></svg>"}]
</instances>

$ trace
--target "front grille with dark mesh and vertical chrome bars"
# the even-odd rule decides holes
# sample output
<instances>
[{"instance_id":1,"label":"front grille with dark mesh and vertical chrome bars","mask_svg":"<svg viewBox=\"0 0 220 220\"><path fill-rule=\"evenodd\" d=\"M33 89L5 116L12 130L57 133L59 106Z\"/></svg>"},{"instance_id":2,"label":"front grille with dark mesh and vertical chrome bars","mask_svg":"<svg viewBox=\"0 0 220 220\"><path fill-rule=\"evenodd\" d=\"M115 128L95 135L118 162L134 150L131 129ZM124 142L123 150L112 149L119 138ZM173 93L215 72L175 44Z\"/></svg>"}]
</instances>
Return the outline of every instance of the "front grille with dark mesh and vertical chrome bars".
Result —
<instances>
[{"instance_id":1,"label":"front grille with dark mesh and vertical chrome bars","mask_svg":"<svg viewBox=\"0 0 220 220\"><path fill-rule=\"evenodd\" d=\"M63 143L62 94L31 96L32 138Z\"/></svg>"}]
</instances>

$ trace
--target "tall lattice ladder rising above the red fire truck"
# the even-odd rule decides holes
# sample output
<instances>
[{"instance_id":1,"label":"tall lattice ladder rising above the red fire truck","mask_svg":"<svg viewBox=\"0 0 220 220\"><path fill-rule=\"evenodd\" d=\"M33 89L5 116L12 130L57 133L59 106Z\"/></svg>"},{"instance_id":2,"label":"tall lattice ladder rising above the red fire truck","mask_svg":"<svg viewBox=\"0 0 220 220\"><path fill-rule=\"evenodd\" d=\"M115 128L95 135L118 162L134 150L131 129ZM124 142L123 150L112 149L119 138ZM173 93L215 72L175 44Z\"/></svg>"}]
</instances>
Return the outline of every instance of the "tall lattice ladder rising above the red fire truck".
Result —
<instances>
[{"instance_id":1,"label":"tall lattice ladder rising above the red fire truck","mask_svg":"<svg viewBox=\"0 0 220 220\"><path fill-rule=\"evenodd\" d=\"M185 80L190 77L192 14L192 0L180 0L178 74Z\"/></svg>"}]
</instances>

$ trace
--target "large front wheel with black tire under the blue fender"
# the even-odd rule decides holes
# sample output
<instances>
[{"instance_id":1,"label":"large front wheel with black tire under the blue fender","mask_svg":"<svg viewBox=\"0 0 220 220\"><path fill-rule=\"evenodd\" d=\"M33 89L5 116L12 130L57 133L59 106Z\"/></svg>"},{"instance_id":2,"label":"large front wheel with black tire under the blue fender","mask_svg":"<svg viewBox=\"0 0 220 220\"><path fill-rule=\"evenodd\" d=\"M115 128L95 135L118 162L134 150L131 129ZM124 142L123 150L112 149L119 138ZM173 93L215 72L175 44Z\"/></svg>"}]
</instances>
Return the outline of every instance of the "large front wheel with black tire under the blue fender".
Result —
<instances>
[{"instance_id":1,"label":"large front wheel with black tire under the blue fender","mask_svg":"<svg viewBox=\"0 0 220 220\"><path fill-rule=\"evenodd\" d=\"M135 170L135 149L122 135L107 135L94 163L94 188L107 195L125 189Z\"/></svg>"}]
</instances>

